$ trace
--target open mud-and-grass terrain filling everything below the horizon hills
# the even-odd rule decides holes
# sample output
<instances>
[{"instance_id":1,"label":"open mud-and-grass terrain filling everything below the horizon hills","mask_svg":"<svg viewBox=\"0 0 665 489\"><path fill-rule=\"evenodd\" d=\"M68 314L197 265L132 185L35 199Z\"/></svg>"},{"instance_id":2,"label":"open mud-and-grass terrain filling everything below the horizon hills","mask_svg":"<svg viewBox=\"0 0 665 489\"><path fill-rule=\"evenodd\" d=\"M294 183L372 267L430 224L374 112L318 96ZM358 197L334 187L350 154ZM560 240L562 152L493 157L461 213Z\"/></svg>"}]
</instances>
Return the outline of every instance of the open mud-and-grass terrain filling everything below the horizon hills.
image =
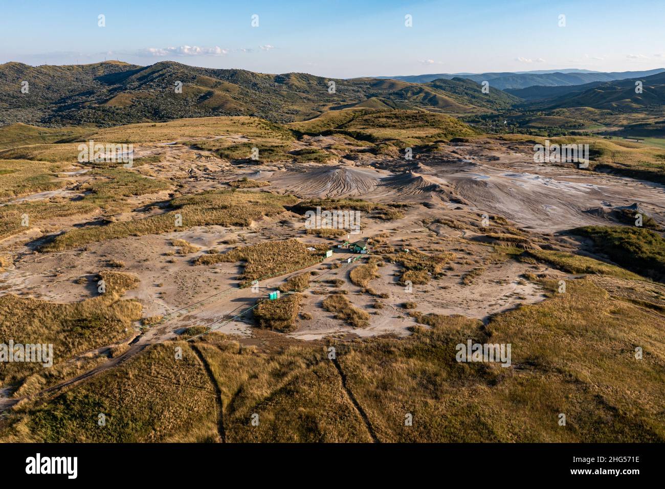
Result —
<instances>
[{"instance_id":1,"label":"open mud-and-grass terrain filling everything below the horizon hills","mask_svg":"<svg viewBox=\"0 0 665 489\"><path fill-rule=\"evenodd\" d=\"M540 136L392 108L0 132L0 331L57 345L48 372L1 366L4 441L455 441L460 425L630 441L636 424L662 438L661 174L602 163L610 148L637 171L657 148L580 136L589 168L537 164ZM90 140L132 144L133 165L78 162ZM358 234L308 228L317 208L359 212ZM511 343L513 366L456 363L467 337ZM557 430L561 410L575 432ZM109 428L85 428L98 412ZM417 430L400 427L409 412Z\"/></svg>"}]
</instances>

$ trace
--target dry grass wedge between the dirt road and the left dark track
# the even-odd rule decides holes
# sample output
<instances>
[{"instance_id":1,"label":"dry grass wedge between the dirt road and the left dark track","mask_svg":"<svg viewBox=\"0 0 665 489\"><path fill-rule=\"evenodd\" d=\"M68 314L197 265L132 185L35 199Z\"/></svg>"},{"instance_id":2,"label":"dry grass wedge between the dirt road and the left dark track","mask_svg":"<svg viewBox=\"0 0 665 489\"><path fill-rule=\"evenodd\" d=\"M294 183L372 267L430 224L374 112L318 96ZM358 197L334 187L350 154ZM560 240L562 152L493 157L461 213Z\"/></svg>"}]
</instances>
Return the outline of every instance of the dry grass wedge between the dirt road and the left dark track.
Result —
<instances>
[{"instance_id":1,"label":"dry grass wedge between the dirt road and the left dark track","mask_svg":"<svg viewBox=\"0 0 665 489\"><path fill-rule=\"evenodd\" d=\"M182 348L182 359L174 351ZM214 391L188 343L166 343L15 413L5 441L209 442L217 440ZM98 426L98 414L106 426Z\"/></svg>"}]
</instances>

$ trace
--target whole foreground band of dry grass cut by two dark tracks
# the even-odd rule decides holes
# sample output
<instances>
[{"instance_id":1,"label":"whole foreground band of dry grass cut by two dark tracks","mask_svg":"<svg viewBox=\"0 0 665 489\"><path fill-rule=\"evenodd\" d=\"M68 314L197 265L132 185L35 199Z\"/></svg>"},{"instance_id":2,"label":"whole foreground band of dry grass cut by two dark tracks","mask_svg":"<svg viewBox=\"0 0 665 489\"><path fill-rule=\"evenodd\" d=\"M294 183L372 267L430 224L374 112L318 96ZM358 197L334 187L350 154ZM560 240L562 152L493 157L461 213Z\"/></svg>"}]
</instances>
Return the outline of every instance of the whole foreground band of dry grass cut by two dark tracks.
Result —
<instances>
[{"instance_id":1,"label":"whole foreground band of dry grass cut by two dark tracks","mask_svg":"<svg viewBox=\"0 0 665 489\"><path fill-rule=\"evenodd\" d=\"M221 391L228 442L370 441L348 393L382 442L663 442L665 319L595 283L630 294L632 281L593 278L569 281L567 293L487 325L417 315L424 326L406 339L332 343L348 391L319 343L247 349L208 335L194 345ZM456 345L467 339L510 343L513 366L458 363ZM0 439L217 440L211 381L188 344L177 344L184 359L174 360L175 345L152 347L53 400L23 405L0 424ZM111 415L103 430L98 412ZM558 424L561 412L566 426ZM259 426L250 423L254 413ZM413 426L404 426L406 414Z\"/></svg>"}]
</instances>

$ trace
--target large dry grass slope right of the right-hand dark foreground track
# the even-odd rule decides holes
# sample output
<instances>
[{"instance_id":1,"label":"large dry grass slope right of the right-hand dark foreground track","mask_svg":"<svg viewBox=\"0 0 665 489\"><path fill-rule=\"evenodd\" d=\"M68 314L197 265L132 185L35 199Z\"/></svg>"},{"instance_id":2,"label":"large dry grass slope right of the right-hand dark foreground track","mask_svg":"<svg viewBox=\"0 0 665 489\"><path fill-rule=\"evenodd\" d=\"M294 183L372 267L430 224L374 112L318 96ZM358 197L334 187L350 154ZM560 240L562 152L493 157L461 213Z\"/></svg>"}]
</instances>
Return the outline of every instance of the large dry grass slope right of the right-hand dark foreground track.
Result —
<instances>
[{"instance_id":1,"label":"large dry grass slope right of the right-hand dark foreground track","mask_svg":"<svg viewBox=\"0 0 665 489\"><path fill-rule=\"evenodd\" d=\"M412 341L367 343L339 357L380 440L665 440L663 319L589 281L497 315L487 328L460 316L421 321L430 328L416 328ZM467 339L511 343L513 368L457 363L456 345ZM404 426L406 413L413 426Z\"/></svg>"}]
</instances>

